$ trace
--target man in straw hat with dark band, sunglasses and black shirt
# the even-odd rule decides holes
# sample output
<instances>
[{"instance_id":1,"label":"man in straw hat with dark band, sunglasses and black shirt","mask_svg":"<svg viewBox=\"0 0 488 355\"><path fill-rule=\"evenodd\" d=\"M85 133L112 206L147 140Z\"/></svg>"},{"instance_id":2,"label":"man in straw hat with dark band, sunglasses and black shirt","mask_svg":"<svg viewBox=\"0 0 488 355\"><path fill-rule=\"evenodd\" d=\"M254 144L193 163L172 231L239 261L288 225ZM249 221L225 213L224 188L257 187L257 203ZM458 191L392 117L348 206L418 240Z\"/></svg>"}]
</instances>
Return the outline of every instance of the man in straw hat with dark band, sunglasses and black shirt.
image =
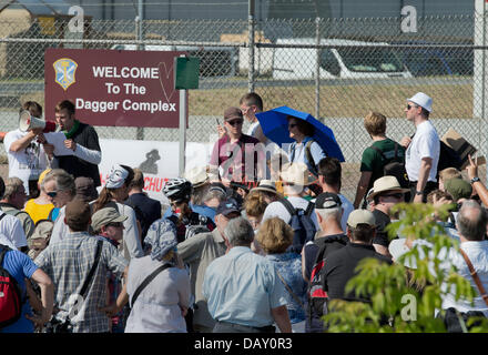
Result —
<instances>
[{"instance_id":1,"label":"man in straw hat with dark band, sunglasses and black shirt","mask_svg":"<svg viewBox=\"0 0 488 355\"><path fill-rule=\"evenodd\" d=\"M386 226L392 223L392 207L404 202L404 195L408 189L403 189L395 176L386 175L379 178L373 184L373 192L368 200L375 203L373 215L376 220L376 236L373 246L376 252L385 256L390 256L388 252L389 237Z\"/></svg>"}]
</instances>

